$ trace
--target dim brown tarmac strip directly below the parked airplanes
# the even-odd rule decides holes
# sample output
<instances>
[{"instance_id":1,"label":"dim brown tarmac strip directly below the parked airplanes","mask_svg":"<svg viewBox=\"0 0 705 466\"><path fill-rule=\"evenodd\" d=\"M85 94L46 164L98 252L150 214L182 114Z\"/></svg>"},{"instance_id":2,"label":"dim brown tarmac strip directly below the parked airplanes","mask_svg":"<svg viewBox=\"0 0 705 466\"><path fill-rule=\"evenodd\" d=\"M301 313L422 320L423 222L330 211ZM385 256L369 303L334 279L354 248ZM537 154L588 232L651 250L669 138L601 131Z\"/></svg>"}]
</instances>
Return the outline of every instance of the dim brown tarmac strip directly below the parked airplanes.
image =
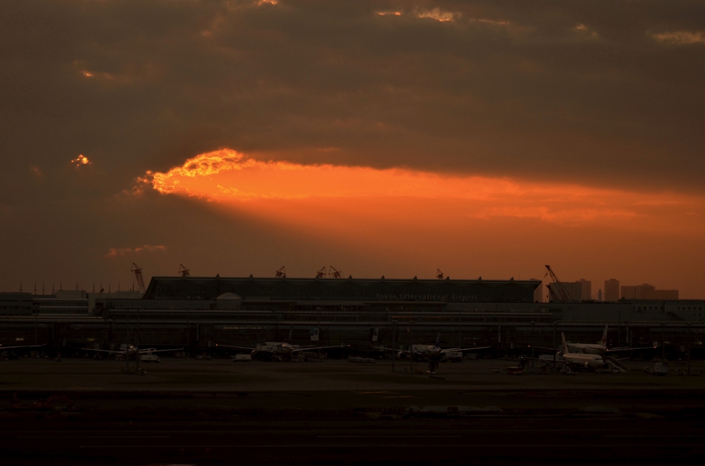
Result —
<instances>
[{"instance_id":1,"label":"dim brown tarmac strip directly below the parked airplanes","mask_svg":"<svg viewBox=\"0 0 705 466\"><path fill-rule=\"evenodd\" d=\"M0 391L104 390L104 391L369 391L369 390L546 390L546 389L705 389L705 377L676 375L685 363L671 363L666 377L644 372L654 363L623 361L625 373L578 372L566 374L508 375L512 360L465 360L441 363L436 374L426 363L391 360L349 363L319 362L232 363L229 358L195 360L161 358L142 363L146 375L123 374L125 361L64 358L20 358L0 361ZM530 362L529 362L530 365ZM539 363L536 363L537 367ZM135 361L130 361L135 367ZM692 362L692 372L705 375L705 363Z\"/></svg>"}]
</instances>

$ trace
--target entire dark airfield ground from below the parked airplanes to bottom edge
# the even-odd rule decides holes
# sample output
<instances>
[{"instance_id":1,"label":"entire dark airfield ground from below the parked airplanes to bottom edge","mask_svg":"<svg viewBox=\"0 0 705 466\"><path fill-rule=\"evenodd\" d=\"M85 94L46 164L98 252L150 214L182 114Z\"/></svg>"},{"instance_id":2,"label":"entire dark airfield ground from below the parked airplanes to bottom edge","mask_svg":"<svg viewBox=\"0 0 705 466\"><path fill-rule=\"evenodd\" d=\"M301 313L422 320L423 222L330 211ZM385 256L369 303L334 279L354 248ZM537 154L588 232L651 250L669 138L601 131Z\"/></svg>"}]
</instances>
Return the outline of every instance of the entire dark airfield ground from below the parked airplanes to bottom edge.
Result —
<instances>
[{"instance_id":1,"label":"entire dark airfield ground from below the parked airplanes to bottom edge","mask_svg":"<svg viewBox=\"0 0 705 466\"><path fill-rule=\"evenodd\" d=\"M654 377L639 367L575 376L494 372L506 365L441 365L429 378L379 363L164 361L137 376L118 374L112 361L5 361L0 462L705 462L705 377Z\"/></svg>"}]
</instances>

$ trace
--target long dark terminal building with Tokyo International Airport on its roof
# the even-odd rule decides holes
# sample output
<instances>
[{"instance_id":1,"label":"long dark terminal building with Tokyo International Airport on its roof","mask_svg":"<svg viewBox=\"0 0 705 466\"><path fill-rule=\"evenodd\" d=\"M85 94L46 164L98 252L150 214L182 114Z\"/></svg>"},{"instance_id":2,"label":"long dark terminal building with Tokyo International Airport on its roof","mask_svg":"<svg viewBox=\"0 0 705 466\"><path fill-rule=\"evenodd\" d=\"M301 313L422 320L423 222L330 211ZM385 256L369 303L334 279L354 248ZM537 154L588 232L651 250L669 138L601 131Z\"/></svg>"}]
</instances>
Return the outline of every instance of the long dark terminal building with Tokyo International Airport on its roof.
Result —
<instances>
[{"instance_id":1,"label":"long dark terminal building with Tokyo International Airport on its roof","mask_svg":"<svg viewBox=\"0 0 705 466\"><path fill-rule=\"evenodd\" d=\"M0 294L0 344L111 348L128 334L134 338L138 319L142 344L194 351L283 341L289 332L294 344L364 351L373 342L430 344L439 331L441 346L512 351L532 341L555 348L560 332L591 343L604 325L610 325L611 346L665 341L680 351L705 340L705 301L537 303L539 286L539 280L481 278L153 277L143 295Z\"/></svg>"}]
</instances>

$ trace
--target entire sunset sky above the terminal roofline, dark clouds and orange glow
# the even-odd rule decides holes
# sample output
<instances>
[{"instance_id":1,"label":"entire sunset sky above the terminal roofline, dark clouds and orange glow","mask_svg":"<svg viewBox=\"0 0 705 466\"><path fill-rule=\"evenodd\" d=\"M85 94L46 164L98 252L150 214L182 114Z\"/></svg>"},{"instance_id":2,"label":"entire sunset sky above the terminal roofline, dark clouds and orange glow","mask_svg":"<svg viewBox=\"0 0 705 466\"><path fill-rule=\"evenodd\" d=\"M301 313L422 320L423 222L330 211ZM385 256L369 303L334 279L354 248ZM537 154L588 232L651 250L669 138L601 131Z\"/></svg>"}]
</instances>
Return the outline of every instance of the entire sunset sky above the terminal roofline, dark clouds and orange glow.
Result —
<instances>
[{"instance_id":1,"label":"entire sunset sky above the terminal roofline, dark clouds and orange glow","mask_svg":"<svg viewBox=\"0 0 705 466\"><path fill-rule=\"evenodd\" d=\"M704 6L8 2L0 291L550 264L705 298Z\"/></svg>"}]
</instances>

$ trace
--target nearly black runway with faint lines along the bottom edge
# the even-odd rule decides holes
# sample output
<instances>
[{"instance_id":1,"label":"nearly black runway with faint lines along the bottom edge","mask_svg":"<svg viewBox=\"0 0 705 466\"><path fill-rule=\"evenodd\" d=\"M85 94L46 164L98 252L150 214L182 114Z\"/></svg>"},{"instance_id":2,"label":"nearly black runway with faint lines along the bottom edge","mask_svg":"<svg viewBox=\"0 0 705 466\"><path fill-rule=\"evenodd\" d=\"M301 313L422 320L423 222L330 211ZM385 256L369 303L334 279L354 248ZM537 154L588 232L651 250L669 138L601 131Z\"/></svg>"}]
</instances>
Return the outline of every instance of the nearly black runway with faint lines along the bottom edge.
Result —
<instances>
[{"instance_id":1,"label":"nearly black runway with faint lines along the bottom edge","mask_svg":"<svg viewBox=\"0 0 705 466\"><path fill-rule=\"evenodd\" d=\"M17 464L702 464L699 420L599 417L342 418L4 424ZM61 428L61 426L66 428ZM10 463L5 463L10 464Z\"/></svg>"}]
</instances>

